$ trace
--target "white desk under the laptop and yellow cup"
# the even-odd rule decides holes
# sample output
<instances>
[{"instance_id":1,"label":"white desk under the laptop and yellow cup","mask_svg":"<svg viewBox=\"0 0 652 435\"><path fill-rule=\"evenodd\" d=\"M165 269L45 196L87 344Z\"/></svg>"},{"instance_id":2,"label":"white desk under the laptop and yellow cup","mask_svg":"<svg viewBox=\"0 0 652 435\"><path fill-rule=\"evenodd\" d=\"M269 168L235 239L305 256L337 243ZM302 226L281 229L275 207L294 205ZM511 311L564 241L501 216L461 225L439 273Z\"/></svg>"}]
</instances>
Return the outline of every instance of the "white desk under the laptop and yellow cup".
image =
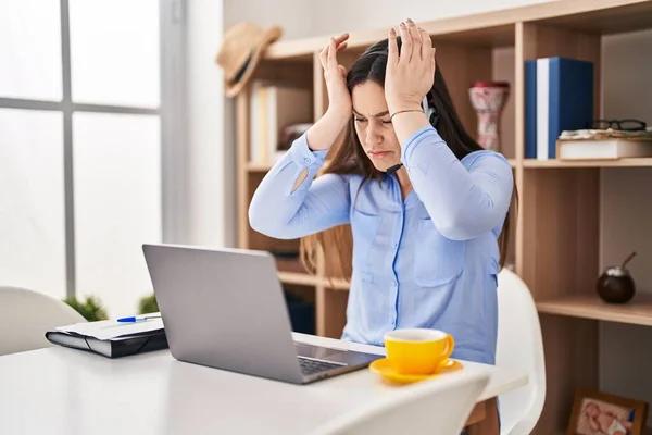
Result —
<instances>
[{"instance_id":1,"label":"white desk under the laptop and yellow cup","mask_svg":"<svg viewBox=\"0 0 652 435\"><path fill-rule=\"evenodd\" d=\"M478 371L491 373L480 401L527 383L523 374L469 362L446 376ZM368 370L297 386L179 362L168 350L110 360L52 347L0 357L0 434L305 434L396 388Z\"/></svg>"}]
</instances>

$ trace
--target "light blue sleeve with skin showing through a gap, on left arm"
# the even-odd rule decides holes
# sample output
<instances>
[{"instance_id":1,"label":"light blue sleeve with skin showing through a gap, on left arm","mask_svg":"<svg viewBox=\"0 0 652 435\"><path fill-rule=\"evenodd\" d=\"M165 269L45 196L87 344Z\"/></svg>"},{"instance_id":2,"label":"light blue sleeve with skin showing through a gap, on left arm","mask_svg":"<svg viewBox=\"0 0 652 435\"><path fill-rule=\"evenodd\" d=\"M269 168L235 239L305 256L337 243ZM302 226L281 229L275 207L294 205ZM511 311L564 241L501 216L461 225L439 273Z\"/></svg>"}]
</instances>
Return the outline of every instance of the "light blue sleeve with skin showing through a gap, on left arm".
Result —
<instances>
[{"instance_id":1,"label":"light blue sleeve with skin showing through a gap, on left arm","mask_svg":"<svg viewBox=\"0 0 652 435\"><path fill-rule=\"evenodd\" d=\"M349 222L349 187L341 175L316 179L326 151L311 151L306 134L265 175L249 207L253 229L298 238Z\"/></svg>"}]
</instances>

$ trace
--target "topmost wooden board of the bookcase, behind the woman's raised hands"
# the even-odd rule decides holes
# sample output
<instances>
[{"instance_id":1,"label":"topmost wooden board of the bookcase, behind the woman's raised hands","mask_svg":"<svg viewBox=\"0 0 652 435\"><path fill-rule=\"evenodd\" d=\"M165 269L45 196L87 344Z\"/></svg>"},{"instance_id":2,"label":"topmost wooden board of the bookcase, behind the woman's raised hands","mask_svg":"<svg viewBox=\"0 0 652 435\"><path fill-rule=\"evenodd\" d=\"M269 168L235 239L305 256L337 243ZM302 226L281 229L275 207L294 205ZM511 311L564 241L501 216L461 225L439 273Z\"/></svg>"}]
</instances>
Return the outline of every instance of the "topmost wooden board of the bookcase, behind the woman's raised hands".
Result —
<instances>
[{"instance_id":1,"label":"topmost wooden board of the bookcase, behind the woman's raised hands","mask_svg":"<svg viewBox=\"0 0 652 435\"><path fill-rule=\"evenodd\" d=\"M514 25L540 23L597 34L652 28L652 2L647 0L573 0L530 4L493 12L417 22L435 40L480 46L514 45ZM399 23L397 22L397 25ZM361 50L387 38L387 29L351 32L349 49ZM279 40L265 50L264 59L312 59L331 35Z\"/></svg>"}]
</instances>

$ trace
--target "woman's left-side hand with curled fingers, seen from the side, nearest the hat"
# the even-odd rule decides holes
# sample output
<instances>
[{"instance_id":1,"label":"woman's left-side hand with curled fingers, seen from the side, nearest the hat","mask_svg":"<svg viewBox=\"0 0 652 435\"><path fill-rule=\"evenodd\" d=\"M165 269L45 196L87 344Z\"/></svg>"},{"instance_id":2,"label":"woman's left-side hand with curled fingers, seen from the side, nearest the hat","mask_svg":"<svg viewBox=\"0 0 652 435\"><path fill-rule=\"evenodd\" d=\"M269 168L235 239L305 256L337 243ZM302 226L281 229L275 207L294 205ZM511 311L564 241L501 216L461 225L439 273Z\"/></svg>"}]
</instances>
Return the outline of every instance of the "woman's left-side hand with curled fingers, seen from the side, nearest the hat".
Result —
<instances>
[{"instance_id":1,"label":"woman's left-side hand with curled fingers, seen from the side, nearest the hat","mask_svg":"<svg viewBox=\"0 0 652 435\"><path fill-rule=\"evenodd\" d=\"M324 79L328 91L328 110L336 117L350 119L352 113L351 96L347 88L347 69L337 61L337 53L347 48L349 34L342 34L330 41L319 53Z\"/></svg>"}]
</instances>

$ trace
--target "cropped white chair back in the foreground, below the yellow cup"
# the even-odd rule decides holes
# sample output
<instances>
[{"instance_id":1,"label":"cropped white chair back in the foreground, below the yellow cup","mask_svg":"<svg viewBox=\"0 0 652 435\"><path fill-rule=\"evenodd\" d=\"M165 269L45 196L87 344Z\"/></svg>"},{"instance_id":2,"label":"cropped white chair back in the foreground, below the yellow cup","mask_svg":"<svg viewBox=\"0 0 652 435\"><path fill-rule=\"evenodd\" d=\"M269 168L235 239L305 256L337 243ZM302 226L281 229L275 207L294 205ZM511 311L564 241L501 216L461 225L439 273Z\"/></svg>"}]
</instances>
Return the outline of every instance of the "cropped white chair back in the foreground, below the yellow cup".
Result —
<instances>
[{"instance_id":1,"label":"cropped white chair back in the foreground, below the yellow cup","mask_svg":"<svg viewBox=\"0 0 652 435\"><path fill-rule=\"evenodd\" d=\"M440 376L361 403L310 435L459 435L489 375Z\"/></svg>"}]
</instances>

